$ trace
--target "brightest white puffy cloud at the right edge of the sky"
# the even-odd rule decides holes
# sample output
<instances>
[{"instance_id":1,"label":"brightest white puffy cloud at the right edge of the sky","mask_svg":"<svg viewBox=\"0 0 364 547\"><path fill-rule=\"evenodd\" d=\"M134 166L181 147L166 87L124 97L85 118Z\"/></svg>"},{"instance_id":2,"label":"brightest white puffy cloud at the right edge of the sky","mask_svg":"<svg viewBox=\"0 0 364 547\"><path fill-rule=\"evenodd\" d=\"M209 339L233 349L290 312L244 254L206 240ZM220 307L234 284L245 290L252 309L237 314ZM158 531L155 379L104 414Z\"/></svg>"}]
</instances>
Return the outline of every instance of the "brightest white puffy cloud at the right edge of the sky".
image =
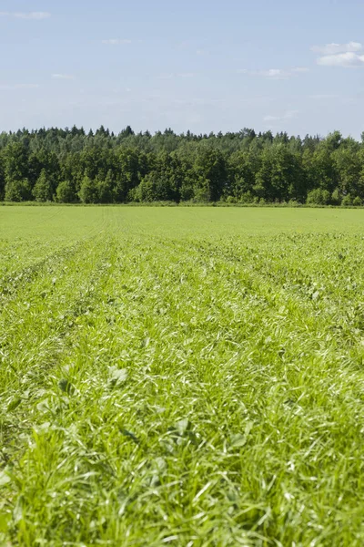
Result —
<instances>
[{"instance_id":1,"label":"brightest white puffy cloud at the right edge of the sky","mask_svg":"<svg viewBox=\"0 0 364 547\"><path fill-rule=\"evenodd\" d=\"M363 49L364 46L359 42L311 47L312 51L321 54L316 59L321 67L362 67L364 65Z\"/></svg>"}]
</instances>

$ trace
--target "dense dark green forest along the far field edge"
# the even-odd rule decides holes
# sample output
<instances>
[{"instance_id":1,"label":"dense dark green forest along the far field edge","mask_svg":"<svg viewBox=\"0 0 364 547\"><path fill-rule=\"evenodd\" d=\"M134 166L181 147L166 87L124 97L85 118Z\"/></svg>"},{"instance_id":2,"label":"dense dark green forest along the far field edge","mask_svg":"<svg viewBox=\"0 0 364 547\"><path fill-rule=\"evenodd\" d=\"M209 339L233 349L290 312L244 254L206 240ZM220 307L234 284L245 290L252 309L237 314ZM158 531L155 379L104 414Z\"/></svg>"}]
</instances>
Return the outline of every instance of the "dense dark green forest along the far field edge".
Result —
<instances>
[{"instance_id":1,"label":"dense dark green forest along the far field edge","mask_svg":"<svg viewBox=\"0 0 364 547\"><path fill-rule=\"evenodd\" d=\"M0 201L364 203L361 142L242 129L119 134L101 126L0 134Z\"/></svg>"}]
</instances>

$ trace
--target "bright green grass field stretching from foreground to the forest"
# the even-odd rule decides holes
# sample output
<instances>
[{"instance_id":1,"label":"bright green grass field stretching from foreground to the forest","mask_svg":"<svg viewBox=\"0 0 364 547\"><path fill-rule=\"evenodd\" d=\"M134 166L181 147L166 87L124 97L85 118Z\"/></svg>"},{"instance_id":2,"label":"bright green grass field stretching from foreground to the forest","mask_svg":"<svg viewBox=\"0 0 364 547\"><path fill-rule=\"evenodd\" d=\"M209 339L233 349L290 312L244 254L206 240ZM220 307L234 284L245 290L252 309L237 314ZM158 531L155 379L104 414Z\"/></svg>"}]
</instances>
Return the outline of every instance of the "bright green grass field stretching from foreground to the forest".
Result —
<instances>
[{"instance_id":1,"label":"bright green grass field stretching from foreground to the forest","mask_svg":"<svg viewBox=\"0 0 364 547\"><path fill-rule=\"evenodd\" d=\"M364 211L0 209L1 546L362 546Z\"/></svg>"}]
</instances>

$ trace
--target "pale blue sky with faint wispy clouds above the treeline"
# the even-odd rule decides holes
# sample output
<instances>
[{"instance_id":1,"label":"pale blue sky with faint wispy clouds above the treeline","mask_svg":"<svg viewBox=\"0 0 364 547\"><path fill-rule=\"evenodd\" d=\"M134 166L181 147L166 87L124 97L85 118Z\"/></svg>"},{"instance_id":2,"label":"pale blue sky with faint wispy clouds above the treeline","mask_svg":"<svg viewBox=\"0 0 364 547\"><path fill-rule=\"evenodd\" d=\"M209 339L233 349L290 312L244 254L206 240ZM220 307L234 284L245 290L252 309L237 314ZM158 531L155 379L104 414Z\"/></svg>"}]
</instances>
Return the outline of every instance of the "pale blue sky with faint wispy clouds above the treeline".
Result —
<instances>
[{"instance_id":1,"label":"pale blue sky with faint wispy clouds above the treeline","mask_svg":"<svg viewBox=\"0 0 364 547\"><path fill-rule=\"evenodd\" d=\"M364 130L361 0L3 0L0 130Z\"/></svg>"}]
</instances>

